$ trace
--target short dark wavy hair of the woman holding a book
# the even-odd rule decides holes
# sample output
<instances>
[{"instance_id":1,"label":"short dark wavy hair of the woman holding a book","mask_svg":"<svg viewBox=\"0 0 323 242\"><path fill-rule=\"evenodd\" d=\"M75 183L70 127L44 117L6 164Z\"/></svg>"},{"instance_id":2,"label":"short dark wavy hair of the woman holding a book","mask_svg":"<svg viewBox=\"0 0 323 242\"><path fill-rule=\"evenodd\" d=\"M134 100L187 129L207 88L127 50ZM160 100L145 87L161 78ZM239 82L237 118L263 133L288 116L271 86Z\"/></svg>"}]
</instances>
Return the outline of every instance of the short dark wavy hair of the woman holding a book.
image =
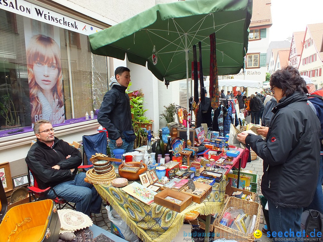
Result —
<instances>
[{"instance_id":1,"label":"short dark wavy hair of the woman holding a book","mask_svg":"<svg viewBox=\"0 0 323 242\"><path fill-rule=\"evenodd\" d=\"M270 76L271 87L278 87L283 90L283 94L289 96L296 91L307 93L306 83L299 75L297 68L287 66L281 70L275 71Z\"/></svg>"}]
</instances>

